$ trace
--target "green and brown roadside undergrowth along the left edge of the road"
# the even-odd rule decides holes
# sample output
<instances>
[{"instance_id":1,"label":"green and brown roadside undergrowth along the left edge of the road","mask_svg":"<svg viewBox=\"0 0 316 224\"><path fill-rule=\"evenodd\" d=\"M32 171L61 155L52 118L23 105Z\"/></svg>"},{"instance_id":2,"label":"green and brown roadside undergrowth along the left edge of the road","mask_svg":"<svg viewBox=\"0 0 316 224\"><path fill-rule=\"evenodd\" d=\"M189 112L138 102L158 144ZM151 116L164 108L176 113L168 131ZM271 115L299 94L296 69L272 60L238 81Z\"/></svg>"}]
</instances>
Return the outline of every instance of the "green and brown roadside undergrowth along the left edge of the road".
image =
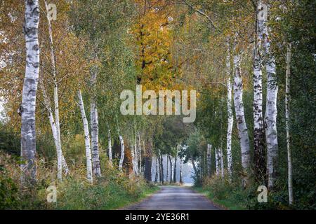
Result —
<instances>
[{"instance_id":1,"label":"green and brown roadside undergrowth along the left edge of the road","mask_svg":"<svg viewBox=\"0 0 316 224\"><path fill-rule=\"evenodd\" d=\"M55 181L53 167L39 160L37 185L33 190L20 188L18 158L0 153L0 209L118 209L158 190L136 176L126 176L103 167L103 177L90 184L85 167L76 167L63 181ZM10 175L8 175L10 174ZM57 202L46 201L48 186L57 189Z\"/></svg>"}]
</instances>

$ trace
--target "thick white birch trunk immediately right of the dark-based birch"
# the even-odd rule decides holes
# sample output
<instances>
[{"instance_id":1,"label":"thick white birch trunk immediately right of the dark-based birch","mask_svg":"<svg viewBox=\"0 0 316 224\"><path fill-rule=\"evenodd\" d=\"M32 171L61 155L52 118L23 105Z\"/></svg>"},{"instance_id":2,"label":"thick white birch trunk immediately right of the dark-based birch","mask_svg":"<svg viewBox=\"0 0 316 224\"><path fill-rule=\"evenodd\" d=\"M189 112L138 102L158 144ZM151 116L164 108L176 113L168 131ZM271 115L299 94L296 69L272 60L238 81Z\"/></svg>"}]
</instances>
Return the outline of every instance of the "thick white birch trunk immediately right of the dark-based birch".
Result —
<instances>
[{"instance_id":1,"label":"thick white birch trunk immediately right of the dark-based birch","mask_svg":"<svg viewBox=\"0 0 316 224\"><path fill-rule=\"evenodd\" d=\"M269 8L269 6L268 6ZM268 188L275 186L277 176L277 73L275 57L270 52L268 26L263 27L263 48L265 50L265 69L267 72L267 99L265 109L265 139L267 142Z\"/></svg>"}]
</instances>

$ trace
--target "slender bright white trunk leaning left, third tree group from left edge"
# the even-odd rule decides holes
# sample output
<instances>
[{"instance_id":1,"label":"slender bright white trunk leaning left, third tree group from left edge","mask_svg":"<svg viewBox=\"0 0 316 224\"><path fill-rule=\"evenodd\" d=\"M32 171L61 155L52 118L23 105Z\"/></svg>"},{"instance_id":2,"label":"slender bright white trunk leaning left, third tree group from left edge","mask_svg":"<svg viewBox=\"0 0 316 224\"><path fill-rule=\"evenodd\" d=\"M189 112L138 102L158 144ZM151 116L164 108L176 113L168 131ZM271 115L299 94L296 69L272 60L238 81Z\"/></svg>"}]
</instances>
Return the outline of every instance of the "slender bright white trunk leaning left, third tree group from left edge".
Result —
<instances>
[{"instance_id":1,"label":"slender bright white trunk leaning left, third tree group from left edge","mask_svg":"<svg viewBox=\"0 0 316 224\"><path fill-rule=\"evenodd\" d=\"M82 99L81 91L78 90L79 107L81 111L82 122L84 123L84 143L86 144L86 179L93 182L92 177L92 159L88 120L86 119L86 111L84 110L84 101Z\"/></svg>"}]
</instances>

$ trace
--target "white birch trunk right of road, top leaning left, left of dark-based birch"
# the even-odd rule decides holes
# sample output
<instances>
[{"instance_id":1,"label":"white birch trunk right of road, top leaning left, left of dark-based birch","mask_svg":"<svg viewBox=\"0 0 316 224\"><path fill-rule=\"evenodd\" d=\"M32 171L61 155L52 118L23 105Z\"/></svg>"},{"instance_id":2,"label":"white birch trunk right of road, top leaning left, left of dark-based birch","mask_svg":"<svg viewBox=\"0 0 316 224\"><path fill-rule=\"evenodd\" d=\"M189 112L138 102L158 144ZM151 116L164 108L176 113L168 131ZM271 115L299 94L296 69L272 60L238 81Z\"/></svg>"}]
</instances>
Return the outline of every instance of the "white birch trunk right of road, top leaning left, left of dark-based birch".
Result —
<instances>
[{"instance_id":1,"label":"white birch trunk right of road, top leaning left, left of dark-based birch","mask_svg":"<svg viewBox=\"0 0 316 224\"><path fill-rule=\"evenodd\" d=\"M237 128L239 134L240 148L242 149L242 168L243 179L242 184L246 186L249 183L250 173L250 146L249 136L246 126L246 120L244 118L244 103L242 101L242 71L240 68L241 55L237 54L234 57L235 77L234 77L234 104Z\"/></svg>"}]
</instances>

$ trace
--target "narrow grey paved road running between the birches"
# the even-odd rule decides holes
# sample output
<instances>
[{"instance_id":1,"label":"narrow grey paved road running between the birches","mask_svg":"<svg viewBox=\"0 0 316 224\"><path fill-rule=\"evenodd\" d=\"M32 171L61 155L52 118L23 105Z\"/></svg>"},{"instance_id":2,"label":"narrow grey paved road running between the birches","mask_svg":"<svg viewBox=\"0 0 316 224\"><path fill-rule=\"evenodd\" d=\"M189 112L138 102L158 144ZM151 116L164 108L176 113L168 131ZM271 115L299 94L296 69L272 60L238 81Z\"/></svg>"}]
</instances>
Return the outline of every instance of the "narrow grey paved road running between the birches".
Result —
<instances>
[{"instance_id":1,"label":"narrow grey paved road running between the birches","mask_svg":"<svg viewBox=\"0 0 316 224\"><path fill-rule=\"evenodd\" d=\"M157 193L126 210L218 210L204 195L190 188L162 187Z\"/></svg>"}]
</instances>

